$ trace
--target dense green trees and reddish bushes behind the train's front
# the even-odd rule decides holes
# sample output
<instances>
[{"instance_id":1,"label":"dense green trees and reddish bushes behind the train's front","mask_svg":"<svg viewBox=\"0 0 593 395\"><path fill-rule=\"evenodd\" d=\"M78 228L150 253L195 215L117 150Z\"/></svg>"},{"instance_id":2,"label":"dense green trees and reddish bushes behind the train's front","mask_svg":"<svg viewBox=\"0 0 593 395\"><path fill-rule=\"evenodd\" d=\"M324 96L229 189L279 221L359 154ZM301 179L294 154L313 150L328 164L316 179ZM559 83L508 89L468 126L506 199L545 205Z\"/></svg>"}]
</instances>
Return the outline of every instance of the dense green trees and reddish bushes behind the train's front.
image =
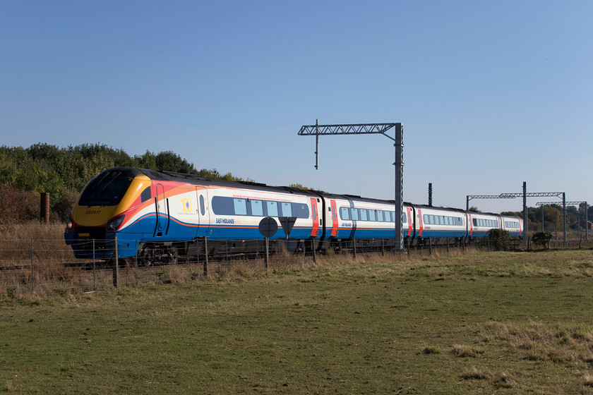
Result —
<instances>
[{"instance_id":1,"label":"dense green trees and reddish bushes behind the train's front","mask_svg":"<svg viewBox=\"0 0 593 395\"><path fill-rule=\"evenodd\" d=\"M172 151L131 156L102 144L57 147L38 143L28 148L0 147L0 224L30 221L40 215L40 193L49 193L53 221L65 221L78 193L104 169L134 166L207 178L244 181L216 169L196 169Z\"/></svg>"}]
</instances>

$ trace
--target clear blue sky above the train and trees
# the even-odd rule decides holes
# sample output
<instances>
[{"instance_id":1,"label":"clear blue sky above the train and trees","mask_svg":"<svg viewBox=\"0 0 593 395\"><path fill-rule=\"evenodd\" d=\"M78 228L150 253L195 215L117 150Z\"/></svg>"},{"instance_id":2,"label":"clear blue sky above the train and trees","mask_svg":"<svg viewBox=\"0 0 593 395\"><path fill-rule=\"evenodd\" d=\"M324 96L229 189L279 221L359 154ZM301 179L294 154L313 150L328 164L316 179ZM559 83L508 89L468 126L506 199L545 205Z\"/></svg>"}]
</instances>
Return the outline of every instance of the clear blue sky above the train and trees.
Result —
<instances>
[{"instance_id":1,"label":"clear blue sky above the train and trees","mask_svg":"<svg viewBox=\"0 0 593 395\"><path fill-rule=\"evenodd\" d=\"M1 145L172 150L197 169L405 200L593 204L593 1L0 1ZM529 205L546 198L532 198ZM516 200L473 200L520 211Z\"/></svg>"}]
</instances>

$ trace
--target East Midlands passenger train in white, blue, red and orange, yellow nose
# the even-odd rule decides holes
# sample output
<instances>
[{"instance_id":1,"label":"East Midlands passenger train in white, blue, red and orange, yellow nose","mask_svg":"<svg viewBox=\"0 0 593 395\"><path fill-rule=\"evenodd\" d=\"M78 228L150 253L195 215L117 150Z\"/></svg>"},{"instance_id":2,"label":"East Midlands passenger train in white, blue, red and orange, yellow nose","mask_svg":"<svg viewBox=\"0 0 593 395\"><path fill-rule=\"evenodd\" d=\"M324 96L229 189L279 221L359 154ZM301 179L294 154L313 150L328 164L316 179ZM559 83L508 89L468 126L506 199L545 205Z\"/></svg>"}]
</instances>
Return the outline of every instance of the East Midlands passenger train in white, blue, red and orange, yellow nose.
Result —
<instances>
[{"instance_id":1,"label":"East Midlands passenger train in white, blue, red and orange, yellow nose","mask_svg":"<svg viewBox=\"0 0 593 395\"><path fill-rule=\"evenodd\" d=\"M277 226L268 240L278 245L288 241L284 248L293 252L309 248L323 253L345 242L361 249L393 248L397 214L394 200L114 167L80 192L64 239L77 258L136 257L151 265L223 248L226 253L253 252L262 248L260 221L271 217L292 229ZM407 202L402 224L406 248L471 243L491 229L523 236L520 217Z\"/></svg>"}]
</instances>

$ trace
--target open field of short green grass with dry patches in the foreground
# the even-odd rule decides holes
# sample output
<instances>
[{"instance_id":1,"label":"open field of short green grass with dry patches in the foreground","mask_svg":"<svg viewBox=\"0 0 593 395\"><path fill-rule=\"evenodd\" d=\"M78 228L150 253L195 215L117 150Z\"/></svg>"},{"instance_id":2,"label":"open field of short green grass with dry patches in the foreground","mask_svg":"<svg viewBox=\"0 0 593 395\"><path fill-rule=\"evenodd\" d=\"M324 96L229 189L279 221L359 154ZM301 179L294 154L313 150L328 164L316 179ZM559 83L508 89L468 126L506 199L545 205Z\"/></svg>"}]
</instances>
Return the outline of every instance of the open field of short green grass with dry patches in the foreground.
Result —
<instances>
[{"instance_id":1,"label":"open field of short green grass with dry patches in the foreground","mask_svg":"<svg viewBox=\"0 0 593 395\"><path fill-rule=\"evenodd\" d=\"M0 301L15 394L593 394L593 251L371 257Z\"/></svg>"}]
</instances>

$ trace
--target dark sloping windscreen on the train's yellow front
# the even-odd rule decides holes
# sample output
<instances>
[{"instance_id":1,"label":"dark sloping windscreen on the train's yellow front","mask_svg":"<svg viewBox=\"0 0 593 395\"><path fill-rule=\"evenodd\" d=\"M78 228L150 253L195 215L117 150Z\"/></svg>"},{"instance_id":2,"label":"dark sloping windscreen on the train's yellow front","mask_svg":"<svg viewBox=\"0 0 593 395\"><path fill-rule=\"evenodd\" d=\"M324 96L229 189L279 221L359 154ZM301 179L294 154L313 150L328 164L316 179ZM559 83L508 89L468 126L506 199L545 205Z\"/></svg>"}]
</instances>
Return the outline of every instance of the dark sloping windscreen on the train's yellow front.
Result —
<instances>
[{"instance_id":1,"label":"dark sloping windscreen on the train's yellow front","mask_svg":"<svg viewBox=\"0 0 593 395\"><path fill-rule=\"evenodd\" d=\"M121 171L103 171L93 178L83 190L78 205L80 206L114 206L124 197L133 178Z\"/></svg>"}]
</instances>

